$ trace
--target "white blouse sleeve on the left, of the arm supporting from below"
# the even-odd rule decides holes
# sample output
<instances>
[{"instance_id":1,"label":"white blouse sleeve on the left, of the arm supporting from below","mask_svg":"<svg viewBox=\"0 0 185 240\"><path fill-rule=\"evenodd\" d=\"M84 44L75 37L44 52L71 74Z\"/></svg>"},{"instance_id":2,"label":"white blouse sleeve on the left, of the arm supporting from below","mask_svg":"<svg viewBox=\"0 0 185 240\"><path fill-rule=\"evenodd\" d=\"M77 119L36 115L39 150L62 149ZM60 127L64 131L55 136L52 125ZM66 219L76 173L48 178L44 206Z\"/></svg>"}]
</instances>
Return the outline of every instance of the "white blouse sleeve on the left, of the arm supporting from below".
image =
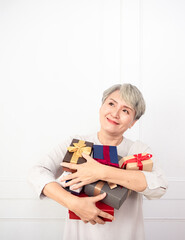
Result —
<instances>
[{"instance_id":1,"label":"white blouse sleeve on the left, of the arm supporting from below","mask_svg":"<svg viewBox=\"0 0 185 240\"><path fill-rule=\"evenodd\" d=\"M28 181L34 187L38 197L44 197L42 191L46 184L57 182L57 173L61 169L60 163L70 143L71 139L58 145L30 170Z\"/></svg>"}]
</instances>

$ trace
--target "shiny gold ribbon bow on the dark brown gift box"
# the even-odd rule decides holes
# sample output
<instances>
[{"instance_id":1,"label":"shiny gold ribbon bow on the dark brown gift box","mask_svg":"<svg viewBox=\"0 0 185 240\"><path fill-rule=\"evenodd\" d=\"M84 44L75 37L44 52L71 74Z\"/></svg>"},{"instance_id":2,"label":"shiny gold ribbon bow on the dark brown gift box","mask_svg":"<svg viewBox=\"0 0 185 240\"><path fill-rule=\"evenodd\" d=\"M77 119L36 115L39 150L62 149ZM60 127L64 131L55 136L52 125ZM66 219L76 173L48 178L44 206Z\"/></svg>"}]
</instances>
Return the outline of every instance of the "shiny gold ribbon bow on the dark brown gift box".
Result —
<instances>
[{"instance_id":1,"label":"shiny gold ribbon bow on the dark brown gift box","mask_svg":"<svg viewBox=\"0 0 185 240\"><path fill-rule=\"evenodd\" d=\"M91 147L86 147L85 141L79 140L78 143L73 143L73 146L70 146L67 148L69 152L73 152L73 156L71 158L71 163L77 163L78 158L82 157L82 153L85 153L87 155L90 155L91 153Z\"/></svg>"}]
</instances>

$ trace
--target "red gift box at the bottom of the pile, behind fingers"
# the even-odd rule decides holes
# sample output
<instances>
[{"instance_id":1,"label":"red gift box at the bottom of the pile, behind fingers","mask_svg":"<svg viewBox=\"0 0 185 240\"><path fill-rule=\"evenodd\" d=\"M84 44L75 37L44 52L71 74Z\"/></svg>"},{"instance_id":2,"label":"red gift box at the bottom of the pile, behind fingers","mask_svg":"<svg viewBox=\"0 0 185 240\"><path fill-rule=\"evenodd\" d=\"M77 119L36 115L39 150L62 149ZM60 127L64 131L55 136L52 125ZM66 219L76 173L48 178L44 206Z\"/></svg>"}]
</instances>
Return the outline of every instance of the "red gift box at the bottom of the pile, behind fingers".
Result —
<instances>
[{"instance_id":1,"label":"red gift box at the bottom of the pile, behind fingers","mask_svg":"<svg viewBox=\"0 0 185 240\"><path fill-rule=\"evenodd\" d=\"M81 193L78 197L88 197L85 193ZM109 205L103 203L103 202L96 202L96 207L101 209L102 211L111 214L114 216L114 208L110 207ZM68 210L69 213L69 219L75 219L75 220L80 220L80 218L71 210ZM102 218L102 217L101 217ZM112 222L112 220L108 218L102 218L103 221L105 222Z\"/></svg>"}]
</instances>

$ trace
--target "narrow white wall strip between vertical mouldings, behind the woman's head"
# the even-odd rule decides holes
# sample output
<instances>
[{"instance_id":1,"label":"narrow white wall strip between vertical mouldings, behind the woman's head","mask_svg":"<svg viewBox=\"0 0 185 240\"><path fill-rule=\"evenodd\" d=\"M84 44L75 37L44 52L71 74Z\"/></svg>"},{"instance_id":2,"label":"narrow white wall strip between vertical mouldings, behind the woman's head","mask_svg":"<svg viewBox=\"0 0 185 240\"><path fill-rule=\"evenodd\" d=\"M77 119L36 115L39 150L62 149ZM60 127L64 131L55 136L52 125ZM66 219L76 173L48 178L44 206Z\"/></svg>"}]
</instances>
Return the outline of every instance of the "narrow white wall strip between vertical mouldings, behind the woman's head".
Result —
<instances>
[{"instance_id":1,"label":"narrow white wall strip between vertical mouldings, behind the woman's head","mask_svg":"<svg viewBox=\"0 0 185 240\"><path fill-rule=\"evenodd\" d=\"M140 4L139 1L120 1L121 28L120 28L120 74L122 83L131 83L141 88L140 78ZM125 136L140 139L141 123L125 133Z\"/></svg>"}]
</instances>

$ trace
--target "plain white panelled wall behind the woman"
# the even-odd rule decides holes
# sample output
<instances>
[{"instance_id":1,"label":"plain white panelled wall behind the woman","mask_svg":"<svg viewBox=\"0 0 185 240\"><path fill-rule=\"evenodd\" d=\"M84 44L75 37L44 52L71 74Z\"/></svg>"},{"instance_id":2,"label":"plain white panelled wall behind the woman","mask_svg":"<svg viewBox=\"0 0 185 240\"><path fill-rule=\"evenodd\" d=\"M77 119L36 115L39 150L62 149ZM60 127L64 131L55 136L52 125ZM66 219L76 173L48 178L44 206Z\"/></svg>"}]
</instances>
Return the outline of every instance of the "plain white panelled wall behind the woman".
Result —
<instances>
[{"instance_id":1,"label":"plain white panelled wall behind the woman","mask_svg":"<svg viewBox=\"0 0 185 240\"><path fill-rule=\"evenodd\" d=\"M144 200L146 238L183 239L184 12L180 0L1 0L0 239L62 239L66 210L36 199L28 171L66 136L95 131L102 91L122 82L147 102L127 136L169 179L162 199Z\"/></svg>"}]
</instances>

